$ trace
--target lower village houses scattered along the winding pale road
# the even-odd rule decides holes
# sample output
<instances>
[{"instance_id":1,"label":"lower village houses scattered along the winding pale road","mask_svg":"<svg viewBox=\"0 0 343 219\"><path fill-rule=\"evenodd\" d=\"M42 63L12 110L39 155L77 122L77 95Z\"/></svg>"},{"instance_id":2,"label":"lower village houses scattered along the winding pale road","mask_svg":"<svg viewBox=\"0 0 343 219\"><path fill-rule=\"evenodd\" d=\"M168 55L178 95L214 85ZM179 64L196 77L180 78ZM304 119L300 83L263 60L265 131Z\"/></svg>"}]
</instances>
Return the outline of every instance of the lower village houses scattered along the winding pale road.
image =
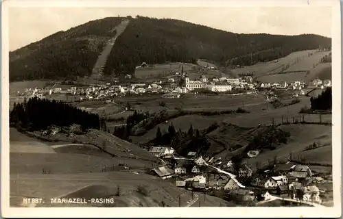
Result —
<instances>
[{"instance_id":1,"label":"lower village houses scattered along the winding pale road","mask_svg":"<svg viewBox=\"0 0 343 219\"><path fill-rule=\"evenodd\" d=\"M165 163L152 169L154 175L174 180L176 186L188 190L224 190L228 194L241 196L244 200L278 196L318 204L322 203L320 194L328 192L327 179L316 177L306 165L276 164L271 170L257 175L247 164L243 164L237 175L233 175L230 173L234 171L233 162L222 162L220 157L202 157L195 152L180 157L168 146L153 146L150 153L160 157Z\"/></svg>"}]
</instances>

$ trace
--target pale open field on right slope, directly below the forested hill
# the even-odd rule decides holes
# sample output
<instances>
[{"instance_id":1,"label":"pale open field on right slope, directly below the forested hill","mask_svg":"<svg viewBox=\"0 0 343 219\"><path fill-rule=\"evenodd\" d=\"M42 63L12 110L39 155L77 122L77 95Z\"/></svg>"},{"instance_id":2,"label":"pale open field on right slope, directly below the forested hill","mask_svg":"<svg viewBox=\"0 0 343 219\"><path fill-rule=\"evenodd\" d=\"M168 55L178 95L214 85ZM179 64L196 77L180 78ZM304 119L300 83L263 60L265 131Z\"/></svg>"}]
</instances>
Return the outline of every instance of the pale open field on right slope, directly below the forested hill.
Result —
<instances>
[{"instance_id":1,"label":"pale open field on right slope, directly below the forested hill","mask_svg":"<svg viewBox=\"0 0 343 219\"><path fill-rule=\"evenodd\" d=\"M305 58L309 53L314 53L316 50L308 50L308 51L298 51L287 55L279 59L278 62L264 62L255 64L253 66L246 66L244 68L236 68L231 70L234 75L238 74L246 74L255 72L255 76L262 76L262 75L269 75L274 73L279 73L281 68L286 64L292 64L297 59Z\"/></svg>"}]
</instances>

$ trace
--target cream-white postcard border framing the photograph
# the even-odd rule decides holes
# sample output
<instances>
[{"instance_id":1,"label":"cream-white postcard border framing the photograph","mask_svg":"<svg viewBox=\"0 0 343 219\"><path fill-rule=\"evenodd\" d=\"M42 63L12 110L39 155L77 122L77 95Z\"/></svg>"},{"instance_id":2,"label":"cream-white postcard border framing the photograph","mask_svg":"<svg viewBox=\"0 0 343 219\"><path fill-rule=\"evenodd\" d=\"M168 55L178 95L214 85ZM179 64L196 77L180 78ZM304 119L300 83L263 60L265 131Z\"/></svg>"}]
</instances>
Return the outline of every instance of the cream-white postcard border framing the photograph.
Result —
<instances>
[{"instance_id":1,"label":"cream-white postcard border framing the photograph","mask_svg":"<svg viewBox=\"0 0 343 219\"><path fill-rule=\"evenodd\" d=\"M334 207L10 207L9 188L9 77L8 77L8 7L332 7L332 75L333 75L333 201ZM288 1L4 1L2 4L2 115L1 115L1 209L3 217L16 218L289 218L341 216L341 16L340 1L288 0ZM320 16L320 15L318 15ZM311 134L311 133L309 133Z\"/></svg>"}]
</instances>

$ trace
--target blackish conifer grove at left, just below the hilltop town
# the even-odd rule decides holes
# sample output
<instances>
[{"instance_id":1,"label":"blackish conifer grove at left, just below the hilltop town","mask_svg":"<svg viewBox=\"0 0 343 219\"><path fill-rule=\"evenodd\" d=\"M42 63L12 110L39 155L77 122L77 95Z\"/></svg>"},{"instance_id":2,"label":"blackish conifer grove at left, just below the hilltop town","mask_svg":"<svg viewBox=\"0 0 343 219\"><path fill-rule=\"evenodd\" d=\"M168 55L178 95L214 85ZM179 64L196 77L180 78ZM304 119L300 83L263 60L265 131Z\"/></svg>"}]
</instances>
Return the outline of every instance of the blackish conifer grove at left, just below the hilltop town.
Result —
<instances>
[{"instance_id":1,"label":"blackish conifer grove at left, just below the hilltop town","mask_svg":"<svg viewBox=\"0 0 343 219\"><path fill-rule=\"evenodd\" d=\"M51 125L67 127L81 125L83 130L100 129L97 114L91 114L60 101L32 98L14 103L10 112L10 124L31 131L47 129Z\"/></svg>"}]
</instances>

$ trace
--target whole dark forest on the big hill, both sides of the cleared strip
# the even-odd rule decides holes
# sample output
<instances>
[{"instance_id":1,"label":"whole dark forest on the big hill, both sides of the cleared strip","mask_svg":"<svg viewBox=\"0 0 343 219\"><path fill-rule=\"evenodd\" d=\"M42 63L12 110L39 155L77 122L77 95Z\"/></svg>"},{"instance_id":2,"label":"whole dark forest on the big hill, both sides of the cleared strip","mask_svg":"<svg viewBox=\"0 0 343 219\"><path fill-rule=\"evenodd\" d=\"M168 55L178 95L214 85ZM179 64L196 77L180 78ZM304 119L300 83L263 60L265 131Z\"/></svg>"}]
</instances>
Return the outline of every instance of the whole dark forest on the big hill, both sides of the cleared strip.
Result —
<instances>
[{"instance_id":1,"label":"whole dark forest on the big hill, both sides of the cleared strip","mask_svg":"<svg viewBox=\"0 0 343 219\"><path fill-rule=\"evenodd\" d=\"M10 53L10 80L90 75L110 30L122 18L104 18L60 31ZM234 34L172 19L138 16L115 41L106 75L134 73L135 66L196 62L202 58L223 66L252 65L293 51L331 48L331 38L316 35Z\"/></svg>"}]
</instances>

